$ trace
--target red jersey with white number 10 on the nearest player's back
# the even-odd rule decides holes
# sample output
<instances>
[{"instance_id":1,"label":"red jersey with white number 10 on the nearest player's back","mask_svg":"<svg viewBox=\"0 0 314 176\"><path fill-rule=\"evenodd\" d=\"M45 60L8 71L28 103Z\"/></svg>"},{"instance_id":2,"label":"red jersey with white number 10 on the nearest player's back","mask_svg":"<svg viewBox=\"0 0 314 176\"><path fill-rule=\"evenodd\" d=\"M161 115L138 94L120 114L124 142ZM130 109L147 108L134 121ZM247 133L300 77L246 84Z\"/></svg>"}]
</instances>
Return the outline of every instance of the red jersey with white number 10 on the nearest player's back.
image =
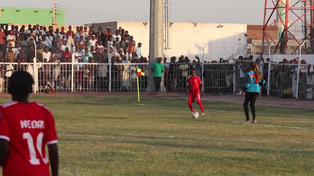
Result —
<instances>
[{"instance_id":1,"label":"red jersey with white number 10 on the nearest player's back","mask_svg":"<svg viewBox=\"0 0 314 176\"><path fill-rule=\"evenodd\" d=\"M45 106L17 101L0 106L0 138L10 144L3 176L50 175L45 145L57 143L57 132Z\"/></svg>"}]
</instances>

